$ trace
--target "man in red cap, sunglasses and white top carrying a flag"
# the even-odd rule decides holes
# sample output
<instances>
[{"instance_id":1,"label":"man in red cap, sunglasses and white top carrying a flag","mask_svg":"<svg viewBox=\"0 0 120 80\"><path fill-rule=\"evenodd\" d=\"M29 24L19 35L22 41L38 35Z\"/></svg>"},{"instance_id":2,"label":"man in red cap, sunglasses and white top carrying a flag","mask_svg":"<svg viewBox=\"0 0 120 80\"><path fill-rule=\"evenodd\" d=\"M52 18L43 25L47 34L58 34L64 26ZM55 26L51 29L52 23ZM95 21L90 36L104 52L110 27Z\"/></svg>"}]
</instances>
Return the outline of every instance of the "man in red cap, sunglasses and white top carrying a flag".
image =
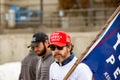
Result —
<instances>
[{"instance_id":1,"label":"man in red cap, sunglasses and white top carrying a flag","mask_svg":"<svg viewBox=\"0 0 120 80\"><path fill-rule=\"evenodd\" d=\"M71 37L66 32L56 31L50 35L49 47L55 58L55 62L50 66L49 80L63 80L77 60L72 52ZM92 75L90 68L86 64L80 63L68 80L92 80Z\"/></svg>"}]
</instances>

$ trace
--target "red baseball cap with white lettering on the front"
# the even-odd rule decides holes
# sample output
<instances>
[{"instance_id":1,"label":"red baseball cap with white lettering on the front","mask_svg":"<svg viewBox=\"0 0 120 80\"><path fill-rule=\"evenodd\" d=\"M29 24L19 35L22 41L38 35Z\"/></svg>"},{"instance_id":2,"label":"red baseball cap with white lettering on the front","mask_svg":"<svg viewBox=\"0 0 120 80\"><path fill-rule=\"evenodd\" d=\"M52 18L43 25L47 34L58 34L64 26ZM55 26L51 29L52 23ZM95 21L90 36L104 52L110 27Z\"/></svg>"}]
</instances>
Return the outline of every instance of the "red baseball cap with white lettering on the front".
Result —
<instances>
[{"instance_id":1,"label":"red baseball cap with white lettering on the front","mask_svg":"<svg viewBox=\"0 0 120 80\"><path fill-rule=\"evenodd\" d=\"M65 46L71 44L71 37L63 31L56 31L50 35L50 45Z\"/></svg>"}]
</instances>

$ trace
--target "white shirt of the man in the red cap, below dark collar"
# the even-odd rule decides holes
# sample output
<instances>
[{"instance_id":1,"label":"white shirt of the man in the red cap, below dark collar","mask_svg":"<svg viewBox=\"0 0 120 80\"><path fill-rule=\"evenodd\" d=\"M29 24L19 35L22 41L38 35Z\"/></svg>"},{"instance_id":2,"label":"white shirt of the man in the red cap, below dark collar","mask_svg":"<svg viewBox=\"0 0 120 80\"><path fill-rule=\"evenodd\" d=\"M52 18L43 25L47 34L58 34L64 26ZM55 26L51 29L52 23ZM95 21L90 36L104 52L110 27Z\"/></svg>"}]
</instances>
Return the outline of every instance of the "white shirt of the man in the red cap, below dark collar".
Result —
<instances>
[{"instance_id":1,"label":"white shirt of the man in the red cap, below dark collar","mask_svg":"<svg viewBox=\"0 0 120 80\"><path fill-rule=\"evenodd\" d=\"M50 79L49 80L63 80L68 71L76 62L77 58L74 57L69 63L61 66L58 63L54 62L50 66ZM90 68L84 64L80 63L70 75L68 80L92 80L92 72Z\"/></svg>"}]
</instances>

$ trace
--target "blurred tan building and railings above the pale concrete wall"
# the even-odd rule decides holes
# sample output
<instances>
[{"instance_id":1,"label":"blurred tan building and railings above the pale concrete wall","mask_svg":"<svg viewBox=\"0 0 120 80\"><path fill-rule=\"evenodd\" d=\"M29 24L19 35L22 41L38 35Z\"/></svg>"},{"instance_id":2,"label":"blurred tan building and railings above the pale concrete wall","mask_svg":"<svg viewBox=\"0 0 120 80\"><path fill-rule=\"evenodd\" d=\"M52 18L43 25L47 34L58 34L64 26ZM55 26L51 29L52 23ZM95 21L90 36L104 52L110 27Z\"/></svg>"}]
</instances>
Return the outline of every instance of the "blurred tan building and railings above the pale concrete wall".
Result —
<instances>
[{"instance_id":1,"label":"blurred tan building and railings above the pale concrete wall","mask_svg":"<svg viewBox=\"0 0 120 80\"><path fill-rule=\"evenodd\" d=\"M38 27L41 22L49 28L71 30L101 27L119 5L116 3L119 0L0 0L0 27Z\"/></svg>"}]
</instances>

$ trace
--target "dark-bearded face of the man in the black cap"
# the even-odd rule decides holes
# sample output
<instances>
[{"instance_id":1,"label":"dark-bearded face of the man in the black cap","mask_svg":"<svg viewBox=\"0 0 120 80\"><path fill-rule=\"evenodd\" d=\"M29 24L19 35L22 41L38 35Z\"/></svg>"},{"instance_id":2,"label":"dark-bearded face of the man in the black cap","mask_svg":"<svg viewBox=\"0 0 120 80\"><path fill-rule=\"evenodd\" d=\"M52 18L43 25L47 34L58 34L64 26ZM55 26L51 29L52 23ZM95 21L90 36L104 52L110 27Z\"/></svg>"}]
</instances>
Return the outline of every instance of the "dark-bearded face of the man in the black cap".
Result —
<instances>
[{"instance_id":1,"label":"dark-bearded face of the man in the black cap","mask_svg":"<svg viewBox=\"0 0 120 80\"><path fill-rule=\"evenodd\" d=\"M43 56L46 53L46 47L43 42L40 42L37 46L34 47L34 51L38 56Z\"/></svg>"}]
</instances>

